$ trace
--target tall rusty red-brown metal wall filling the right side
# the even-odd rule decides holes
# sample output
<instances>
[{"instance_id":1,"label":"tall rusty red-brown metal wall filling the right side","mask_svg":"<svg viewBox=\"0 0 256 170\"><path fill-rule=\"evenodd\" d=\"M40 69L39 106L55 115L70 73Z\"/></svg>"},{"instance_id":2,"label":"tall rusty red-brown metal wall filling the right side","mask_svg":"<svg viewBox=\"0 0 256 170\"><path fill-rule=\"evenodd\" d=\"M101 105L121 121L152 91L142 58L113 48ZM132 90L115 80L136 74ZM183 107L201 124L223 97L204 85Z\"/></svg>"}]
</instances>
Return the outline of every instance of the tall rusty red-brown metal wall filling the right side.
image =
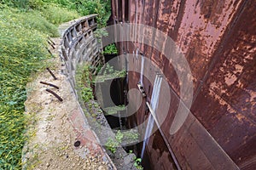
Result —
<instances>
[{"instance_id":1,"label":"tall rusty red-brown metal wall filling the right side","mask_svg":"<svg viewBox=\"0 0 256 170\"><path fill-rule=\"evenodd\" d=\"M121 5L120 5L121 3ZM172 87L172 111L161 127L183 169L256 168L256 1L254 0L112 0L113 20L154 26L181 48L193 74L194 101L189 118L175 135L169 128L179 102L179 81L172 64L154 48L137 42L119 43L119 52L139 49L164 72ZM119 11L122 11L119 13ZM135 32L134 32L135 33ZM151 42L161 43L152 36ZM122 47L121 47L122 46ZM139 61L131 62L137 66ZM129 74L129 88L140 75ZM150 98L152 86L144 82ZM136 105L136 96L131 96ZM160 103L165 96L160 96ZM187 107L183 105L183 107ZM144 121L145 105L134 116ZM132 121L131 121L132 122ZM132 123L131 123L132 124ZM133 125L135 126L135 125ZM148 155L166 162L149 139ZM161 142L165 145L164 142ZM161 145L159 142L159 145ZM155 159L151 159L155 160ZM171 167L170 167L171 168ZM162 169L168 169L162 167Z\"/></svg>"}]
</instances>

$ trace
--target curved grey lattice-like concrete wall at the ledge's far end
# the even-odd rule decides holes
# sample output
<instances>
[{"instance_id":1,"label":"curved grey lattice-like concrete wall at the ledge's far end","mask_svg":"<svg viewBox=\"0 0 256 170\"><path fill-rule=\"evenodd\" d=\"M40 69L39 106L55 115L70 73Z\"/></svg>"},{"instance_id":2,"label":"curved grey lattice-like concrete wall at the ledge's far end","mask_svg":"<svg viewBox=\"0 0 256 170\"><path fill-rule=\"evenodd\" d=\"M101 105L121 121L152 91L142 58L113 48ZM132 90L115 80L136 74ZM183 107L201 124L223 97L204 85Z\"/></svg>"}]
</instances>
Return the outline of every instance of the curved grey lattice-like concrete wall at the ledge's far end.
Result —
<instances>
[{"instance_id":1,"label":"curved grey lattice-like concrete wall at the ledge's far end","mask_svg":"<svg viewBox=\"0 0 256 170\"><path fill-rule=\"evenodd\" d=\"M65 62L65 74L76 96L78 95L75 89L77 65L88 61L92 66L96 66L103 62L104 59L100 53L101 47L93 35L93 31L96 31L96 26L96 14L90 14L76 20L61 35L60 55Z\"/></svg>"}]
</instances>

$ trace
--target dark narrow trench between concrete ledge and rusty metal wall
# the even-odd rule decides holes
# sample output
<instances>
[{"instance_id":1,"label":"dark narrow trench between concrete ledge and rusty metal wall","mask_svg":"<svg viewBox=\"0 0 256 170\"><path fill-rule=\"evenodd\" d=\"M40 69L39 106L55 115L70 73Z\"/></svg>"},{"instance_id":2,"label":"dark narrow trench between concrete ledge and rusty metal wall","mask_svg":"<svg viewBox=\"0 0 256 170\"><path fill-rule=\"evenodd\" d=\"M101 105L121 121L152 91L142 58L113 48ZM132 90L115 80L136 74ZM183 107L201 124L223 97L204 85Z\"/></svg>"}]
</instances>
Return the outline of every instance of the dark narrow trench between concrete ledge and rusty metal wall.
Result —
<instances>
[{"instance_id":1,"label":"dark narrow trench between concrete ledge and rusty metal wall","mask_svg":"<svg viewBox=\"0 0 256 170\"><path fill-rule=\"evenodd\" d=\"M115 58L115 55L105 55L105 62L106 63L111 63L108 62L109 60ZM110 67L113 66L113 70L119 70L119 65L110 65ZM98 83L98 82L97 82ZM110 85L110 89L109 89L109 83ZM104 86L107 85L108 88L105 88L106 90L102 90L104 89ZM104 80L102 82L100 82L99 85L102 89L96 89L95 85L93 86L93 92L94 94L96 94L96 91L100 91L101 95L100 98L102 99L97 99L96 95L95 95L95 99L100 103L104 116L109 124L109 126L116 131L125 131L125 130L129 130L133 127L137 127L137 117L135 115L132 116L126 116L126 110L120 110L120 111L116 111L113 114L108 114L106 111L104 111L103 108L111 108L113 106L126 106L128 105L129 101L128 101L128 97L127 92L128 92L128 82L127 82L127 74L125 77L119 77L119 78L110 78L108 80ZM106 91L110 90L110 97L111 99L108 99L104 97L104 93L106 93ZM112 103L113 102L113 103ZM125 115L121 116L120 115ZM147 112L146 116L150 116L150 113ZM156 126L153 122L149 122L151 124L150 127L154 127ZM148 128L148 127L145 127ZM149 132L150 133L150 132ZM134 144L128 144L123 146L123 149L126 151L127 154L132 153L135 154L136 158L135 160L140 160L140 161L134 161L133 163L137 163L137 165L139 166L137 169L142 169L141 167L143 167L143 169L154 169L155 165L153 165L153 161L149 159L150 156L148 156L148 147L145 146L145 144L147 145L148 143L143 142L145 141L145 139L143 139L143 136L140 136L139 133L138 134L138 140L136 143ZM166 152L168 153L168 149L165 145L159 145L155 142L158 142L159 140L161 144L164 143L161 134L158 131L156 131L154 134L154 136L157 137L157 139L154 139L154 143L153 143L153 147L154 150L160 150L161 152ZM139 142L142 139L142 142ZM149 139L149 138L148 138ZM143 149L144 148L144 149ZM142 152L143 152L143 156L142 156ZM169 161L172 161L172 157L168 156ZM172 169L177 169L174 166L174 163L170 164L173 165Z\"/></svg>"}]
</instances>

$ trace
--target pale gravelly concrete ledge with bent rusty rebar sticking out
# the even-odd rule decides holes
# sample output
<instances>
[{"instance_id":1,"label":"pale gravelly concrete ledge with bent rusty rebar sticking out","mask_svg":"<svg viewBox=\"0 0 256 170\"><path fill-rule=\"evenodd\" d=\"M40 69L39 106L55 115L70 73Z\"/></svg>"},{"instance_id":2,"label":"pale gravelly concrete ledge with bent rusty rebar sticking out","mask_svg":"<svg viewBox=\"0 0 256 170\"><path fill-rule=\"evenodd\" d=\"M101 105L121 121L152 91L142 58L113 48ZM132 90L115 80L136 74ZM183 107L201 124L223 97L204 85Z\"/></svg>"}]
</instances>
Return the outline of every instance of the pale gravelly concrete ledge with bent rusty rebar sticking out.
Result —
<instances>
[{"instance_id":1,"label":"pale gravelly concrete ledge with bent rusty rebar sticking out","mask_svg":"<svg viewBox=\"0 0 256 170\"><path fill-rule=\"evenodd\" d=\"M60 38L55 38L55 48ZM57 50L52 51L57 55ZM23 149L24 169L115 169L108 154L102 149L96 134L80 111L79 103L72 92L61 59L48 61L57 80L48 71L43 71L27 85L26 114L31 116L27 134L31 137ZM60 89L39 83L51 82ZM49 88L61 96L59 101L45 91ZM80 141L79 147L74 143Z\"/></svg>"}]
</instances>

